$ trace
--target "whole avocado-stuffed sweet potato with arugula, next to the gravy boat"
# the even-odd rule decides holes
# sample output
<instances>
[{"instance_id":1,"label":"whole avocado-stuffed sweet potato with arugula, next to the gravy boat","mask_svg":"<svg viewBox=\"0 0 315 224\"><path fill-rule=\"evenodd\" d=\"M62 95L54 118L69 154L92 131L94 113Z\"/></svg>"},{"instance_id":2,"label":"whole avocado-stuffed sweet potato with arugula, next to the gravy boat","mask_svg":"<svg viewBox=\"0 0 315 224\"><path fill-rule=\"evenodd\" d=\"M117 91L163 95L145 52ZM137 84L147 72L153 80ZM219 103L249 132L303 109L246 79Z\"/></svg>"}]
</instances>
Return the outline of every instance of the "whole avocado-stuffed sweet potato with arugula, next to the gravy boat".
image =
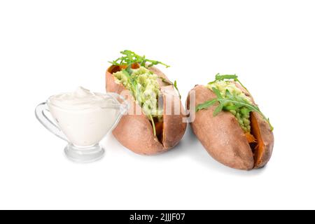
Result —
<instances>
[{"instance_id":1,"label":"whole avocado-stuffed sweet potato with arugula, next to the gravy boat","mask_svg":"<svg viewBox=\"0 0 315 224\"><path fill-rule=\"evenodd\" d=\"M111 62L106 71L106 92L122 94L131 107L113 136L138 154L154 155L174 148L186 131L176 85L153 66L162 62L129 50L121 53L124 56Z\"/></svg>"}]
</instances>

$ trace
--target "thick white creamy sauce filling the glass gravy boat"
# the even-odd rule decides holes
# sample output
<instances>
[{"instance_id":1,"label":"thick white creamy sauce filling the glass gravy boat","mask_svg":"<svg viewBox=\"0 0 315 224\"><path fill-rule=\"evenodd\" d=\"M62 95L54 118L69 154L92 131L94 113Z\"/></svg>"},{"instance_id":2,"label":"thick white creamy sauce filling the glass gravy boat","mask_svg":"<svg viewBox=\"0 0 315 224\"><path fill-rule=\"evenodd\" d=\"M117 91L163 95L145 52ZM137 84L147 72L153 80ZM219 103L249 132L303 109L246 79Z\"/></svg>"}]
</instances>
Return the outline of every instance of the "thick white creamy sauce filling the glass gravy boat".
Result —
<instances>
[{"instance_id":1,"label":"thick white creamy sauce filling the glass gravy boat","mask_svg":"<svg viewBox=\"0 0 315 224\"><path fill-rule=\"evenodd\" d=\"M83 87L50 97L48 108L75 146L98 144L120 115L120 105L115 99Z\"/></svg>"}]
</instances>

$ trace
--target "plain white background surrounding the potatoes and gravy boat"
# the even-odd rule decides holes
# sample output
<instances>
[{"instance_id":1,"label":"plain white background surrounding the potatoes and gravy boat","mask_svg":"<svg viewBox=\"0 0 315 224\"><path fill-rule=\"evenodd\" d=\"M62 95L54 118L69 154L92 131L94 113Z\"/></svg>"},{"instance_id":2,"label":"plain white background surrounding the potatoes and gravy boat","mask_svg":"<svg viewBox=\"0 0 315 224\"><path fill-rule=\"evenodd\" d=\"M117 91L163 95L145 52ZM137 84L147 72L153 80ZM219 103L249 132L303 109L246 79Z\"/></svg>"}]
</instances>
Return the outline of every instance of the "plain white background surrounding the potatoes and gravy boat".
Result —
<instances>
[{"instance_id":1,"label":"plain white background surrounding the potatoes and gravy boat","mask_svg":"<svg viewBox=\"0 0 315 224\"><path fill-rule=\"evenodd\" d=\"M0 1L0 209L315 209L314 1ZM141 156L104 139L80 165L35 106L78 85L105 91L120 50L171 64L184 98L237 73L274 125L267 167L214 161L190 129Z\"/></svg>"}]
</instances>

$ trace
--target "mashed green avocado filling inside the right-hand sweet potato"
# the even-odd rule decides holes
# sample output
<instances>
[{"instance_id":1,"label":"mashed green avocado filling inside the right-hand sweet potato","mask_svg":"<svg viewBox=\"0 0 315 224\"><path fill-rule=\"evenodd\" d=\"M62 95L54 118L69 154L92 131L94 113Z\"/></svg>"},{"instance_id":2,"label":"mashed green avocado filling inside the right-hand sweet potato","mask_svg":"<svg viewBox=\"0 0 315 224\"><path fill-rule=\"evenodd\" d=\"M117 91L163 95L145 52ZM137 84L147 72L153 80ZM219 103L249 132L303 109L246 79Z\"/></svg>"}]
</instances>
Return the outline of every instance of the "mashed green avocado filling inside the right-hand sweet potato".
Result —
<instances>
[{"instance_id":1,"label":"mashed green avocado filling inside the right-hand sweet potato","mask_svg":"<svg viewBox=\"0 0 315 224\"><path fill-rule=\"evenodd\" d=\"M226 90L228 90L232 95L241 97L241 99L244 99L246 102L248 102L248 104L252 104L251 99L247 97L244 92L242 92L235 85L235 83L232 83L230 81L219 80L214 83L209 83L207 87L209 88L209 90L212 90L213 87L218 89L221 92L223 98L227 98ZM237 122L245 133L251 132L250 111L248 111L245 107L240 107L236 110L230 110L230 113L232 113L235 118L237 118Z\"/></svg>"}]
</instances>

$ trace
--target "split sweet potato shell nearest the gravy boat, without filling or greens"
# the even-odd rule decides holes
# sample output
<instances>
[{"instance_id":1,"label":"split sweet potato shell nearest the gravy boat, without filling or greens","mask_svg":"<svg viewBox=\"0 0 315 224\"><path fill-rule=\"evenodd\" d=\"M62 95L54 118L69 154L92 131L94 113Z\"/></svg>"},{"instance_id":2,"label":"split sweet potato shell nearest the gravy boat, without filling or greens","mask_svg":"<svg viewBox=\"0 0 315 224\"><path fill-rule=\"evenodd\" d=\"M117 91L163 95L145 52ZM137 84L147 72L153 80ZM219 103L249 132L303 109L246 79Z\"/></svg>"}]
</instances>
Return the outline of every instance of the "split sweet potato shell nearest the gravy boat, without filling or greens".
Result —
<instances>
[{"instance_id":1,"label":"split sweet potato shell nearest the gravy boat, without filling or greens","mask_svg":"<svg viewBox=\"0 0 315 224\"><path fill-rule=\"evenodd\" d=\"M137 68L137 65L134 65ZM163 82L158 78L160 85L160 91L163 99L163 119L160 123L155 123L156 136L153 134L153 126L148 117L141 113L141 115L134 114L134 111L142 111L141 106L134 100L132 93L127 90L124 85L118 83L113 73L124 69L123 66L110 66L106 71L106 92L116 92L121 94L123 91L127 92L124 97L132 105L127 115L123 116L120 123L113 130L113 136L134 153L142 155L154 155L158 153L164 153L174 148L179 141L181 141L183 134L186 131L186 123L183 123L184 109L173 85ZM152 66L150 71L155 73L158 77L162 77L169 81L162 71ZM167 98L170 97L170 98ZM167 109L167 100L172 99L172 104L168 106L172 107ZM175 114L175 105L181 105L181 113ZM131 111L131 110L134 111ZM172 113L166 113L166 111L172 111Z\"/></svg>"}]
</instances>

